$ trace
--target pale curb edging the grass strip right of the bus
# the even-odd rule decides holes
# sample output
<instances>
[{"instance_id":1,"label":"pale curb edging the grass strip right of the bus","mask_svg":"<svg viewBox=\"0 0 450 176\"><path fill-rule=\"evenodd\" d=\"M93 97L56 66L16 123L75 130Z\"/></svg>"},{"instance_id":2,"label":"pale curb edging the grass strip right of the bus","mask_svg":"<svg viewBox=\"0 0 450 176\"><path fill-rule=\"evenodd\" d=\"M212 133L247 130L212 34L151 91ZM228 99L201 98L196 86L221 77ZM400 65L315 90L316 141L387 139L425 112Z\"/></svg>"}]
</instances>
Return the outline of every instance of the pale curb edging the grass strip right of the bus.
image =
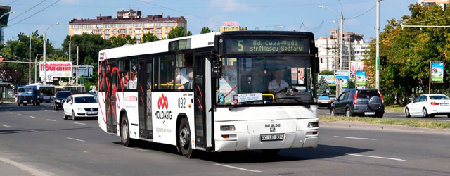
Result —
<instances>
[{"instance_id":1,"label":"pale curb edging the grass strip right of the bus","mask_svg":"<svg viewBox=\"0 0 450 176\"><path fill-rule=\"evenodd\" d=\"M422 127L408 127L404 125L384 125L384 124L369 124L366 122L319 122L319 127L338 127L338 128L355 128L355 129L369 129L369 130L386 130L386 131L406 131L406 132L429 132L450 134L450 130L436 130Z\"/></svg>"}]
</instances>

